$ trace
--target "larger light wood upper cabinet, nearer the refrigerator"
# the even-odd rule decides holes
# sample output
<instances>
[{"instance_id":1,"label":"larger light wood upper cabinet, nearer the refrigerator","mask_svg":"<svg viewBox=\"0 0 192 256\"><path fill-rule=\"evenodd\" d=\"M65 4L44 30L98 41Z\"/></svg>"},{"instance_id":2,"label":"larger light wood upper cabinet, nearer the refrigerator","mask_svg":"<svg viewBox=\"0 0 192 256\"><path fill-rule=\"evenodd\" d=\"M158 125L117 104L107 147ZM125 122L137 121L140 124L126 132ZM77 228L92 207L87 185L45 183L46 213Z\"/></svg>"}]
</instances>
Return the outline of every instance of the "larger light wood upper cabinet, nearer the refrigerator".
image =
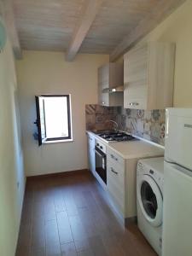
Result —
<instances>
[{"instance_id":1,"label":"larger light wood upper cabinet, nearer the refrigerator","mask_svg":"<svg viewBox=\"0 0 192 256\"><path fill-rule=\"evenodd\" d=\"M124 108L172 107L175 44L151 42L124 55Z\"/></svg>"}]
</instances>

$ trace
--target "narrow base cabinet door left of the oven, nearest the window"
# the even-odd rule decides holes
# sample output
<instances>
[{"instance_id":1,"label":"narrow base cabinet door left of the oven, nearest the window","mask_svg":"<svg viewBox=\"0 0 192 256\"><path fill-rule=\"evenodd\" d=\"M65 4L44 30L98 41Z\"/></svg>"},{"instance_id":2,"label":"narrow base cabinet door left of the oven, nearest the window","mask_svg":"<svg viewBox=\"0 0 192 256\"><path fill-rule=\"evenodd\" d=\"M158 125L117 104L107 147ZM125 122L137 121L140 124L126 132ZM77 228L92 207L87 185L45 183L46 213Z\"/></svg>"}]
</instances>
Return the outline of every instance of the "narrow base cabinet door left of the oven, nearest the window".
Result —
<instances>
[{"instance_id":1,"label":"narrow base cabinet door left of the oven, nearest the window","mask_svg":"<svg viewBox=\"0 0 192 256\"><path fill-rule=\"evenodd\" d=\"M90 172L95 176L96 173L96 157L95 157L95 136L87 133L87 154Z\"/></svg>"}]
</instances>

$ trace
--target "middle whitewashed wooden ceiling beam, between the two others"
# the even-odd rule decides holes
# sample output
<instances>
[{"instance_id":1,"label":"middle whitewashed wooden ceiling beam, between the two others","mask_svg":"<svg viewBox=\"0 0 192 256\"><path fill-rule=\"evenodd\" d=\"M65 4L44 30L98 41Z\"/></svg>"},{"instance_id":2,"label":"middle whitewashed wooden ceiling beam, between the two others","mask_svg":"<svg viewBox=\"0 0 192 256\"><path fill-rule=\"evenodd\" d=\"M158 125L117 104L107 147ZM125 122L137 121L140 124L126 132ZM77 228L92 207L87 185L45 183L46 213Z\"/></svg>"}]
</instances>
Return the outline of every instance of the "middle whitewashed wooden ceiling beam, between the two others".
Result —
<instances>
[{"instance_id":1,"label":"middle whitewashed wooden ceiling beam, between the two others","mask_svg":"<svg viewBox=\"0 0 192 256\"><path fill-rule=\"evenodd\" d=\"M84 0L84 6L81 10L78 25L74 30L73 38L67 49L67 61L73 61L75 55L77 55L84 38L90 30L90 26L96 18L96 14L102 5L102 2L103 0Z\"/></svg>"}]
</instances>

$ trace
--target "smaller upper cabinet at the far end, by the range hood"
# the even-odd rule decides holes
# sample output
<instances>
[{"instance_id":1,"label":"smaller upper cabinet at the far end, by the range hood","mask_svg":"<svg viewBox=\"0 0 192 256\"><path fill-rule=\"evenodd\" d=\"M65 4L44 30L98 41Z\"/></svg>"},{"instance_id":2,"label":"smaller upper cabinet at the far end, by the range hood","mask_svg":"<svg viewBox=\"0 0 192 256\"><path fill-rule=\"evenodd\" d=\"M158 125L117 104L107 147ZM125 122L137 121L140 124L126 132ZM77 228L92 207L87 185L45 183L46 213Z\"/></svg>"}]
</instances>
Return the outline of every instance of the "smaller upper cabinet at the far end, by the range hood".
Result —
<instances>
[{"instance_id":1,"label":"smaller upper cabinet at the far end, by the range hood","mask_svg":"<svg viewBox=\"0 0 192 256\"><path fill-rule=\"evenodd\" d=\"M108 63L98 69L98 103L102 106L123 106L123 64Z\"/></svg>"}]
</instances>

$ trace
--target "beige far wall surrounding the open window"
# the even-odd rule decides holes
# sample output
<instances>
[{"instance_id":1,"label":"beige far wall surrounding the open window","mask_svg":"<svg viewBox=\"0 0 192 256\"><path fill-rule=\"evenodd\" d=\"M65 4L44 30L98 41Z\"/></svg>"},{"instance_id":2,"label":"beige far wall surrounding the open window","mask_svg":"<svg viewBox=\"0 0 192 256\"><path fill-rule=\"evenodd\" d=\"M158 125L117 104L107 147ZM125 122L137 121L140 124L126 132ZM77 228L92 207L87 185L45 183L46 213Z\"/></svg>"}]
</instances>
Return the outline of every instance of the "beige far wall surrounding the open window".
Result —
<instances>
[{"instance_id":1,"label":"beige far wall surrounding the open window","mask_svg":"<svg viewBox=\"0 0 192 256\"><path fill-rule=\"evenodd\" d=\"M97 102L97 68L106 62L108 55L78 55L67 62L63 53L35 51L24 52L23 60L17 61L27 176L87 168L85 104ZM71 94L73 143L38 147L34 141L34 96L46 93Z\"/></svg>"}]
</instances>

